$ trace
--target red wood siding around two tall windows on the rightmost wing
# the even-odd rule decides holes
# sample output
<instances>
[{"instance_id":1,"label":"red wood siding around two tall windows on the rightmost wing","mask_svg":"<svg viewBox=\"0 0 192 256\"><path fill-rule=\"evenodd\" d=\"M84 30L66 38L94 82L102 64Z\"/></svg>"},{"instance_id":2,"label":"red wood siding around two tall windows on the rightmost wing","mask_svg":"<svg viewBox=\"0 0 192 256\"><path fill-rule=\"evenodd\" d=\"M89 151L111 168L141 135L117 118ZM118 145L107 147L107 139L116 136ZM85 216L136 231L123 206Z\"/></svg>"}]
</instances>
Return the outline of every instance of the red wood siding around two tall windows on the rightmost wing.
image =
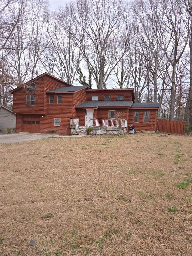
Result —
<instances>
[{"instance_id":1,"label":"red wood siding around two tall windows on the rightmost wing","mask_svg":"<svg viewBox=\"0 0 192 256\"><path fill-rule=\"evenodd\" d=\"M134 111L139 111L139 123L134 122ZM144 111L149 111L149 123L144 123ZM157 110L156 109L129 109L128 125L135 126L136 131L156 131Z\"/></svg>"}]
</instances>

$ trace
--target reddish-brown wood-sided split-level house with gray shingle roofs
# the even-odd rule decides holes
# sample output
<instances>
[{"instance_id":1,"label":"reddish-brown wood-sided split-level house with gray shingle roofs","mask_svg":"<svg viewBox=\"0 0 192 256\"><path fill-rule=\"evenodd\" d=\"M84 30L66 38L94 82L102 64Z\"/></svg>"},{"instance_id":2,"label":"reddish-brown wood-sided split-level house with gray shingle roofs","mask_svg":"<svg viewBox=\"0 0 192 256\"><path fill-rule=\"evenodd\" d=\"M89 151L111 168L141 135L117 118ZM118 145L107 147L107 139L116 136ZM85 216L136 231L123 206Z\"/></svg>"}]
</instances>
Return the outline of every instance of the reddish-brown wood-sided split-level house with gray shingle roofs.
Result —
<instances>
[{"instance_id":1,"label":"reddish-brown wood-sided split-level house with gray shingle roofs","mask_svg":"<svg viewBox=\"0 0 192 256\"><path fill-rule=\"evenodd\" d=\"M156 131L158 103L134 103L133 89L90 90L43 73L10 93L16 132L48 133L55 129L57 134L70 134L71 118L79 118L79 125L85 126L88 114L89 118L113 119L118 112L128 120L128 126Z\"/></svg>"}]
</instances>

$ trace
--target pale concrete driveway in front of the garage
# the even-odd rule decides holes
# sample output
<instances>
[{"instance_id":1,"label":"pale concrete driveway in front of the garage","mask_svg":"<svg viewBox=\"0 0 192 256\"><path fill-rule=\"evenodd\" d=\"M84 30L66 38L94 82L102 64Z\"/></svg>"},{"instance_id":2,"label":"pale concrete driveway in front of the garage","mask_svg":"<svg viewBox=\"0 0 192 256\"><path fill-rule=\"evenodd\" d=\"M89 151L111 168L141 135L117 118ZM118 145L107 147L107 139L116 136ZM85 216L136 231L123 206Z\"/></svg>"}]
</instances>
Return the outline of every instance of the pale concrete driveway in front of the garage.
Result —
<instances>
[{"instance_id":1,"label":"pale concrete driveway in front of the garage","mask_svg":"<svg viewBox=\"0 0 192 256\"><path fill-rule=\"evenodd\" d=\"M0 135L0 144L1 143L16 143L29 140L38 140L43 138L50 138L50 134L41 134L41 133L11 133ZM56 136L55 136L56 137Z\"/></svg>"}]
</instances>

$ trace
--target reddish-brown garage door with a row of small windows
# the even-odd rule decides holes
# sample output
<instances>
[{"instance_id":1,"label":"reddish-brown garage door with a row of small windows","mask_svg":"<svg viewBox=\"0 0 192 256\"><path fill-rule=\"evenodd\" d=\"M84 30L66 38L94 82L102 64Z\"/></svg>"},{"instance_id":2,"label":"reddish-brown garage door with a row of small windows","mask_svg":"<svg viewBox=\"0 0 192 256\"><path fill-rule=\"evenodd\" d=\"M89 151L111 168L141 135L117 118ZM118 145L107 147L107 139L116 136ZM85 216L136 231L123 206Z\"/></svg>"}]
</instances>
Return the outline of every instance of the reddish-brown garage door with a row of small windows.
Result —
<instances>
[{"instance_id":1,"label":"reddish-brown garage door with a row of small windows","mask_svg":"<svg viewBox=\"0 0 192 256\"><path fill-rule=\"evenodd\" d=\"M39 117L23 117L22 132L39 133Z\"/></svg>"}]
</instances>

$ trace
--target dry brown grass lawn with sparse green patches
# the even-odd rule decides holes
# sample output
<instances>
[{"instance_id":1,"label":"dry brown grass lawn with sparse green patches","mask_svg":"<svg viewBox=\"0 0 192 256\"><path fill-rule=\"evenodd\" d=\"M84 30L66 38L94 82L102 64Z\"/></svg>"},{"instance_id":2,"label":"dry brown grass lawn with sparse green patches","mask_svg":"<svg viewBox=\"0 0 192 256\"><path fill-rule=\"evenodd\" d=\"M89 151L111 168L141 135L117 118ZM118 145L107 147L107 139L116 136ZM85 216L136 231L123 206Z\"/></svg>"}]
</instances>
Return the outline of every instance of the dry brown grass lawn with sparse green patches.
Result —
<instances>
[{"instance_id":1,"label":"dry brown grass lawn with sparse green patches","mask_svg":"<svg viewBox=\"0 0 192 256\"><path fill-rule=\"evenodd\" d=\"M0 181L0 255L192 255L191 137L4 144Z\"/></svg>"}]
</instances>

